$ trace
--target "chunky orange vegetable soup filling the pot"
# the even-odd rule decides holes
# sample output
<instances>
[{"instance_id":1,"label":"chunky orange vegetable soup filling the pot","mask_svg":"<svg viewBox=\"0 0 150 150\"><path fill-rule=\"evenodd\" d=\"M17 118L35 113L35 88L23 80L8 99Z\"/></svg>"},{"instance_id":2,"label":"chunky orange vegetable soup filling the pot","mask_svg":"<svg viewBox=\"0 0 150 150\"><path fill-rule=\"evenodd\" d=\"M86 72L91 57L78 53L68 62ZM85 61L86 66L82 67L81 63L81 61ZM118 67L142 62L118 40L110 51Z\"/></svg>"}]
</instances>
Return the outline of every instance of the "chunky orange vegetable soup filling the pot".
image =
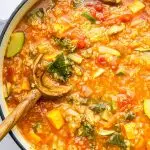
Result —
<instances>
[{"instance_id":1,"label":"chunky orange vegetable soup filling the pot","mask_svg":"<svg viewBox=\"0 0 150 150\"><path fill-rule=\"evenodd\" d=\"M64 87L18 123L35 149L150 150L148 0L41 0L6 51L10 111L38 88L33 75L47 88Z\"/></svg>"}]
</instances>

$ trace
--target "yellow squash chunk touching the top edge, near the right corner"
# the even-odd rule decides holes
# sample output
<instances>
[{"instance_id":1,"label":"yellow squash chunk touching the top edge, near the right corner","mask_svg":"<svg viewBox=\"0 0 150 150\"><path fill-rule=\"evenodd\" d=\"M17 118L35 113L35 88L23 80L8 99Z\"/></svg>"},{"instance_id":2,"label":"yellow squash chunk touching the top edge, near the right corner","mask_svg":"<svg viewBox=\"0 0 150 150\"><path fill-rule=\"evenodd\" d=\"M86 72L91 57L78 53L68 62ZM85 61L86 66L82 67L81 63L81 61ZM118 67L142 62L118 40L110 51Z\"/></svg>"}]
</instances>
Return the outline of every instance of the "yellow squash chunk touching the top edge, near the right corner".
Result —
<instances>
[{"instance_id":1,"label":"yellow squash chunk touching the top edge, near the right corner","mask_svg":"<svg viewBox=\"0 0 150 150\"><path fill-rule=\"evenodd\" d=\"M129 5L129 9L133 12L133 13L137 13L139 11L141 11L142 9L144 9L145 5L141 2L141 1L134 1L131 5Z\"/></svg>"}]
</instances>

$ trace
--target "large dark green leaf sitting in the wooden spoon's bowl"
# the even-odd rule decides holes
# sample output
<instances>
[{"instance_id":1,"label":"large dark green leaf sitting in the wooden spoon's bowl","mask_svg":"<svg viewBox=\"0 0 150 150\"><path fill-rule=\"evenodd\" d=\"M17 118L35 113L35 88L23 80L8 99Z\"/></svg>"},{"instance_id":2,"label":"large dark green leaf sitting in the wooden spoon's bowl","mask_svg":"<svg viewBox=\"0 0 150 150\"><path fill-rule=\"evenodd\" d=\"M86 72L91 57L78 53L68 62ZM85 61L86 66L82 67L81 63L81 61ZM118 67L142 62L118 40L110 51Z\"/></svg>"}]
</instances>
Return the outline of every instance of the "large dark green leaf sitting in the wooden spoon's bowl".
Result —
<instances>
[{"instance_id":1,"label":"large dark green leaf sitting in the wooden spoon's bowl","mask_svg":"<svg viewBox=\"0 0 150 150\"><path fill-rule=\"evenodd\" d=\"M70 61L60 54L56 57L56 60L48 65L47 71L53 73L55 79L65 82L72 74L72 67Z\"/></svg>"}]
</instances>

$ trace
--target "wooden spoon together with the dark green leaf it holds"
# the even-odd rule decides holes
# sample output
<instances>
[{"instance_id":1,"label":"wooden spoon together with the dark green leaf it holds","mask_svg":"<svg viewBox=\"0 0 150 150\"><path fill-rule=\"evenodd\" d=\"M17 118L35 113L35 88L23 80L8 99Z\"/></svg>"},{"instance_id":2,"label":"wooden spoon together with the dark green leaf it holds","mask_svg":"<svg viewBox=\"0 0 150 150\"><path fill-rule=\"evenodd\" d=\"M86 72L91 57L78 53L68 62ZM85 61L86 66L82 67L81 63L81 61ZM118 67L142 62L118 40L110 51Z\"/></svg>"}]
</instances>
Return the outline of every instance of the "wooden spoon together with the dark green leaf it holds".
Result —
<instances>
[{"instance_id":1,"label":"wooden spoon together with the dark green leaf it holds","mask_svg":"<svg viewBox=\"0 0 150 150\"><path fill-rule=\"evenodd\" d=\"M71 66L64 54L56 56L55 60L42 65L43 54L40 54L33 64L33 82L35 88L19 103L0 125L0 140L16 125L25 114L35 105L41 96L60 97L71 90L71 86L65 85L65 80L71 75ZM59 82L58 82L59 81Z\"/></svg>"}]
</instances>

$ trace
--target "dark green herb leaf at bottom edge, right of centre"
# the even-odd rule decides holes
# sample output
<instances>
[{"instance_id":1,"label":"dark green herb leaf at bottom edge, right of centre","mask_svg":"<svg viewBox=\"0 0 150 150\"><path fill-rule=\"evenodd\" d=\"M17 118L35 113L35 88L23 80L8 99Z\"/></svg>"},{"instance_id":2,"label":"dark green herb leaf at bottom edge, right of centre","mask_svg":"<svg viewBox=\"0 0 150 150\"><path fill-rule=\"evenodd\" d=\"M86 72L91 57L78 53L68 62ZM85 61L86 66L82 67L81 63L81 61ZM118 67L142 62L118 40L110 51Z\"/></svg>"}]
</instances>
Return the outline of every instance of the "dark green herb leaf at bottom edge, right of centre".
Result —
<instances>
[{"instance_id":1,"label":"dark green herb leaf at bottom edge, right of centre","mask_svg":"<svg viewBox=\"0 0 150 150\"><path fill-rule=\"evenodd\" d=\"M108 142L108 144L111 144L111 145L115 145L115 146L118 146L120 147L122 150L126 150L127 146L126 146L126 143L124 141L124 138L123 136L120 134L120 133L114 133L110 136Z\"/></svg>"}]
</instances>

